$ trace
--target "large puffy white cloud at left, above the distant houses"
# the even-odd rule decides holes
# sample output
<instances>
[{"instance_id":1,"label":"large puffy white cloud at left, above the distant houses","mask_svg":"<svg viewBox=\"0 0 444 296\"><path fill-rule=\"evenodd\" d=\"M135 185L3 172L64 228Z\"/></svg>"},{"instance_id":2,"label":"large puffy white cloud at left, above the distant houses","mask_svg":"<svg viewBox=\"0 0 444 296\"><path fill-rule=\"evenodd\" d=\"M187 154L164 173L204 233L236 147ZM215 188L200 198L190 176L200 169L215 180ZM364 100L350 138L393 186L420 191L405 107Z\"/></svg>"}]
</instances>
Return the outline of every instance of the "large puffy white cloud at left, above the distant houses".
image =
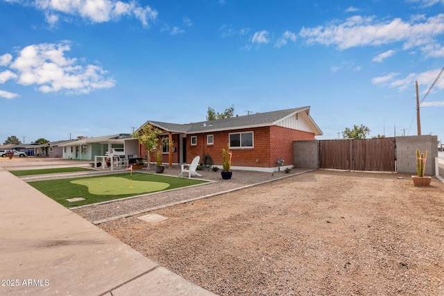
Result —
<instances>
[{"instance_id":1,"label":"large puffy white cloud at left, above the distant houses","mask_svg":"<svg viewBox=\"0 0 444 296\"><path fill-rule=\"evenodd\" d=\"M78 63L76 58L65 57L71 48L67 43L34 44L26 46L10 69L21 85L37 85L40 92L67 92L87 94L93 89L114 87L115 81L107 78L101 67ZM10 74L9 74L10 75Z\"/></svg>"}]
</instances>

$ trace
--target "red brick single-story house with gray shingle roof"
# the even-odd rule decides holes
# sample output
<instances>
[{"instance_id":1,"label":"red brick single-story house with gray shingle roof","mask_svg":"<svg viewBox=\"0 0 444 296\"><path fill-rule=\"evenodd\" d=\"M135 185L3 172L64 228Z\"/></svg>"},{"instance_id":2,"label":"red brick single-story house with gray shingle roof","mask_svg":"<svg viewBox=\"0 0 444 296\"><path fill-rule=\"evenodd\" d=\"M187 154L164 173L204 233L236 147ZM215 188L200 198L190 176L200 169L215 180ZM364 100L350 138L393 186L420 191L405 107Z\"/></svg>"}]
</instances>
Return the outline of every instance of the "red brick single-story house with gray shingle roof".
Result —
<instances>
[{"instance_id":1,"label":"red brick single-story house with gray shingle roof","mask_svg":"<svg viewBox=\"0 0 444 296\"><path fill-rule=\"evenodd\" d=\"M213 166L221 168L222 148L229 143L233 169L273 172L293 166L293 141L322 135L309 111L310 107L300 107L198 123L147 121L144 125L159 128L173 143L162 146L165 163L191 162L199 155L208 166L211 159ZM142 145L140 151L144 151Z\"/></svg>"}]
</instances>

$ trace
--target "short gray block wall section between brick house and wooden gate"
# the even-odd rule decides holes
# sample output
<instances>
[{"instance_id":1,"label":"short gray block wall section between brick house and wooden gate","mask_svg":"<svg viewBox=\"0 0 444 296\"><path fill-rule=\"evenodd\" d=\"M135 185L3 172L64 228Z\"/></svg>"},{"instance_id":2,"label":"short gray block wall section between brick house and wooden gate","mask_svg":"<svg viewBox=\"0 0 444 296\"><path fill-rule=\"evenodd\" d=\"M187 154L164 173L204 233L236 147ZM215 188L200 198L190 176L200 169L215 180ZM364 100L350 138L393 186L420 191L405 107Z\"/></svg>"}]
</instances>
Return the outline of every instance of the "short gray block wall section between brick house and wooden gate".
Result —
<instances>
[{"instance_id":1,"label":"short gray block wall section between brick house and wooden gate","mask_svg":"<svg viewBox=\"0 0 444 296\"><path fill-rule=\"evenodd\" d=\"M295 168L318 168L318 140L293 141Z\"/></svg>"}]
</instances>

